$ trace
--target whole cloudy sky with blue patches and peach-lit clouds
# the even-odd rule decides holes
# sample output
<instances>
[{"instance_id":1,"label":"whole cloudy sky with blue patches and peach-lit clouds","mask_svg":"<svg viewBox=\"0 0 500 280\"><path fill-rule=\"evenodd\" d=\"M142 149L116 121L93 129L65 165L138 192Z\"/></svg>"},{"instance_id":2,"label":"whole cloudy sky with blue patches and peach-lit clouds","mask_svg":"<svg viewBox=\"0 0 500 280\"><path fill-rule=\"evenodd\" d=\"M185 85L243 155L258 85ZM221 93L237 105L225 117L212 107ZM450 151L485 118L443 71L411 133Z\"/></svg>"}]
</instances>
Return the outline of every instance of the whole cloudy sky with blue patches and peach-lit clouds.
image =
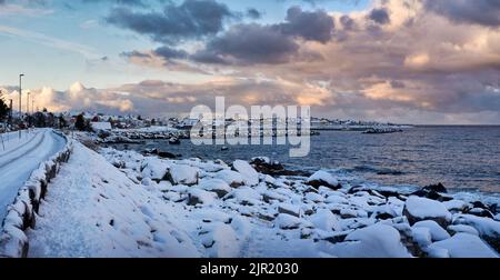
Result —
<instances>
[{"instance_id":1,"label":"whole cloudy sky with blue patches and peach-lit clouds","mask_svg":"<svg viewBox=\"0 0 500 280\"><path fill-rule=\"evenodd\" d=\"M0 88L36 107L229 104L500 124L496 0L0 0Z\"/></svg>"}]
</instances>

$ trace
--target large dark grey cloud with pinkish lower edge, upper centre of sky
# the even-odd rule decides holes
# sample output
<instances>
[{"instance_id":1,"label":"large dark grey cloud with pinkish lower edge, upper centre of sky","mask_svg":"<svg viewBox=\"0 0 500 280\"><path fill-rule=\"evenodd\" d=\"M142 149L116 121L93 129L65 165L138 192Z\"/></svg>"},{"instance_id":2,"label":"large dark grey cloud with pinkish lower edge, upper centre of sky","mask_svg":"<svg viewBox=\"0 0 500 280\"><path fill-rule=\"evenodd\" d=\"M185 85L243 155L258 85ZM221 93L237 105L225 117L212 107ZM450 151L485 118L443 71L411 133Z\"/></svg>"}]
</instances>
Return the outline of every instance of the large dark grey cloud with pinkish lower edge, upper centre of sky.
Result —
<instances>
[{"instance_id":1,"label":"large dark grey cloud with pinkish lower edge, upper centre of sky","mask_svg":"<svg viewBox=\"0 0 500 280\"><path fill-rule=\"evenodd\" d=\"M332 39L333 19L323 10L302 11L298 7L288 10L287 20L277 24L237 24L210 40L206 48L191 59L202 63L221 64L279 64L299 58L299 42ZM306 53L307 59L319 56Z\"/></svg>"}]
</instances>

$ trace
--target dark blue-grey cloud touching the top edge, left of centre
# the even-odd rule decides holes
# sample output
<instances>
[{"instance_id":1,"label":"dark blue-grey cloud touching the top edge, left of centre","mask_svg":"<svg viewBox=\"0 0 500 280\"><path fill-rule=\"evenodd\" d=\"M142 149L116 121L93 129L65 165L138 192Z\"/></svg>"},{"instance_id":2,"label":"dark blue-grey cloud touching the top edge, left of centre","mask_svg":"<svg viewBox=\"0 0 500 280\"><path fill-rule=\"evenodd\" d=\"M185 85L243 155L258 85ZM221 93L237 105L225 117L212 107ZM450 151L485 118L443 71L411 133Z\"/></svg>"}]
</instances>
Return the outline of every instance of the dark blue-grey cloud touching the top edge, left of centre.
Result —
<instances>
[{"instance_id":1,"label":"dark blue-grey cloud touching the top edge, left of centre","mask_svg":"<svg viewBox=\"0 0 500 280\"><path fill-rule=\"evenodd\" d=\"M217 34L228 18L236 17L226 4L213 0L186 0L181 4L169 2L162 12L136 12L126 8L111 11L107 21L154 41L174 43Z\"/></svg>"}]
</instances>

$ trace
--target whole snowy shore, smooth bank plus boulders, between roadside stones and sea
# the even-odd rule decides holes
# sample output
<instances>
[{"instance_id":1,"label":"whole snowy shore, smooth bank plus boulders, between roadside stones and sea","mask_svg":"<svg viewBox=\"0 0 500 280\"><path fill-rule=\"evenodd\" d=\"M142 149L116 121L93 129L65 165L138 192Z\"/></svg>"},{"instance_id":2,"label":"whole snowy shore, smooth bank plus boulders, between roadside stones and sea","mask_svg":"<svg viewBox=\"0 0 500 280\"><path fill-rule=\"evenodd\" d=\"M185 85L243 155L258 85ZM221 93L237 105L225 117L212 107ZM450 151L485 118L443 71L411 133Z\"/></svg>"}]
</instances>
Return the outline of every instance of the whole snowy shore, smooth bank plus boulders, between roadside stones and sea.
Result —
<instances>
[{"instance_id":1,"label":"whole snowy shore, smooth bank plus boulders, between roadside stones and sea","mask_svg":"<svg viewBox=\"0 0 500 280\"><path fill-rule=\"evenodd\" d=\"M74 144L28 232L31 257L498 257L500 222L477 216L497 213L473 200L100 153Z\"/></svg>"}]
</instances>

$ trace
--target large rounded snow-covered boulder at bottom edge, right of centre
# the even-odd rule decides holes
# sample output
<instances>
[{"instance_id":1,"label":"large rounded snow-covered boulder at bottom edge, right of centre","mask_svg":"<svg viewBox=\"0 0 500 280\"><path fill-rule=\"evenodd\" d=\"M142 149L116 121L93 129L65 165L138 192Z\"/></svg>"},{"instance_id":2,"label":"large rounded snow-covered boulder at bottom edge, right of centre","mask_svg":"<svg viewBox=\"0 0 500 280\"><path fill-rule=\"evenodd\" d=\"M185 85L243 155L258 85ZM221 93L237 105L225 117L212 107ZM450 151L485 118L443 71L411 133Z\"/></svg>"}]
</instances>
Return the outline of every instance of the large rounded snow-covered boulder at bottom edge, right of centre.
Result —
<instances>
[{"instance_id":1,"label":"large rounded snow-covered boulder at bottom edge, right of centre","mask_svg":"<svg viewBox=\"0 0 500 280\"><path fill-rule=\"evenodd\" d=\"M340 258L411 257L399 231L381 223L356 230L346 237L346 242L333 244L330 252Z\"/></svg>"}]
</instances>

